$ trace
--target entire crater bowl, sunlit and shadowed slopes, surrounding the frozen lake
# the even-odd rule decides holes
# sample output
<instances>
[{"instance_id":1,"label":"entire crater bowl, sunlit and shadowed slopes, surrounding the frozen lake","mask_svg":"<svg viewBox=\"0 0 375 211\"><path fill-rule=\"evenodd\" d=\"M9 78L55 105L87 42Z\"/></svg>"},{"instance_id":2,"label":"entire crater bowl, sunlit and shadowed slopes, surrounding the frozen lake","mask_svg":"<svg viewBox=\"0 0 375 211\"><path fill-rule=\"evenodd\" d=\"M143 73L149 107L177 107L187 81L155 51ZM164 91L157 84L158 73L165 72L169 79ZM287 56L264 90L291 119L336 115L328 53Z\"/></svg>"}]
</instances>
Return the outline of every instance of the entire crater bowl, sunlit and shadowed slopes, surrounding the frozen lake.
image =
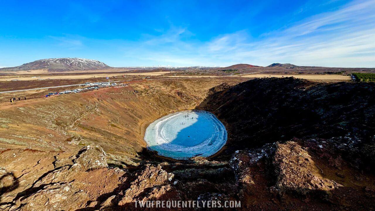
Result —
<instances>
[{"instance_id":1,"label":"entire crater bowl, sunlit and shadowed slopes, surrounding the frozen lake","mask_svg":"<svg viewBox=\"0 0 375 211\"><path fill-rule=\"evenodd\" d=\"M142 81L4 104L0 209L136 210L135 200L168 199L240 200L238 210L374 208L374 83L240 82ZM179 161L145 148L148 124L188 109L223 122L222 151Z\"/></svg>"}]
</instances>

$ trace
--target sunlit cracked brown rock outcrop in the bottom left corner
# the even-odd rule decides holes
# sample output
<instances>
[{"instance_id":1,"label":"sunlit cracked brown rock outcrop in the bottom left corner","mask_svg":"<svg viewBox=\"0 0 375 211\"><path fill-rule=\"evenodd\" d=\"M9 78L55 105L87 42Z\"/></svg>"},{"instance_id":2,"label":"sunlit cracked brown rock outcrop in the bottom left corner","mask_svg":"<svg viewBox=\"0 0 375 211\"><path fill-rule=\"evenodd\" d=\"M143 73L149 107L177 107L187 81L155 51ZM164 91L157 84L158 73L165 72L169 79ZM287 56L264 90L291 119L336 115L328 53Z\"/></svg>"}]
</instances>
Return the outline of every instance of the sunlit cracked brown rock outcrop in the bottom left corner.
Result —
<instances>
[{"instance_id":1,"label":"sunlit cracked brown rock outcrop in the bottom left corner","mask_svg":"<svg viewBox=\"0 0 375 211\"><path fill-rule=\"evenodd\" d=\"M9 211L76 210L113 192L126 180L123 170L105 168L108 166L106 154L99 146L85 146L74 155L60 153L49 164L41 164L39 160L28 169L28 174L47 170L48 166L53 168L37 179L28 175L13 178L13 182L1 179L3 187L13 190L1 195L0 208Z\"/></svg>"}]
</instances>

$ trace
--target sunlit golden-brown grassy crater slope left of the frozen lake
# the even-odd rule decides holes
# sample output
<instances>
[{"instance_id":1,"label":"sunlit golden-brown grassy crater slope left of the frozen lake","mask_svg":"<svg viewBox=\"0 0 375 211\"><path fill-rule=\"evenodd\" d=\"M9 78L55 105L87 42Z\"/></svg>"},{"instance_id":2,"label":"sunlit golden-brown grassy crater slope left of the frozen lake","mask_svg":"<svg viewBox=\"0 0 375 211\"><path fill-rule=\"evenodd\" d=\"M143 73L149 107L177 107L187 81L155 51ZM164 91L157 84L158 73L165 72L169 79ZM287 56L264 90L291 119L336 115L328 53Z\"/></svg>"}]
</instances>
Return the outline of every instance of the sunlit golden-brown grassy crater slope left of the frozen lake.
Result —
<instances>
[{"instance_id":1,"label":"sunlit golden-brown grassy crater slope left of the frozen lake","mask_svg":"<svg viewBox=\"0 0 375 211\"><path fill-rule=\"evenodd\" d=\"M22 143L17 145L19 148L42 151L65 150L73 146L65 140L81 136L82 143L102 146L108 154L120 156L116 159L131 163L129 160L138 159L137 152L145 147L143 136L148 124L168 113L195 108L197 99L204 99L209 89L223 81L239 80L145 80L125 87L21 100L13 105L7 99L0 103L0 118L9 119L12 124L0 128L1 134L4 139ZM39 141L41 134L45 137ZM15 147L0 140L1 143L4 149Z\"/></svg>"}]
</instances>

